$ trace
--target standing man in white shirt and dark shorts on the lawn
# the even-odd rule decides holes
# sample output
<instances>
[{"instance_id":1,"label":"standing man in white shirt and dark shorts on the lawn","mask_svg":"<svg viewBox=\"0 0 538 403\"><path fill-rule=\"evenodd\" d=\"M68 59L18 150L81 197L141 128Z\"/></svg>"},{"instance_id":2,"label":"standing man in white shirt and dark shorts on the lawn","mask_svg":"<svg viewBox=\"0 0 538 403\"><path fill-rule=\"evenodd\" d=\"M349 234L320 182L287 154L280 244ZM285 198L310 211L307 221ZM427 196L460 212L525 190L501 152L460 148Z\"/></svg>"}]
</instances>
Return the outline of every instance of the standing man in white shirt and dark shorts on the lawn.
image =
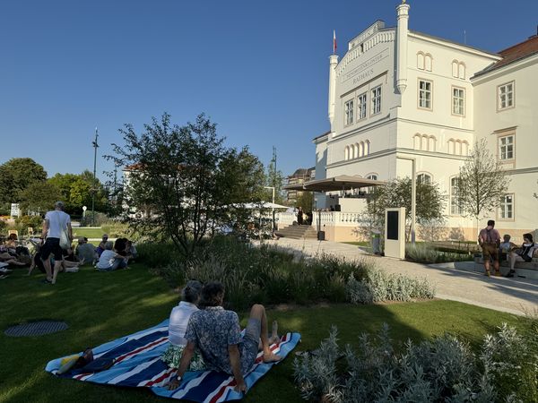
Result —
<instances>
[{"instance_id":1,"label":"standing man in white shirt and dark shorts on the lawn","mask_svg":"<svg viewBox=\"0 0 538 403\"><path fill-rule=\"evenodd\" d=\"M43 261L43 266L45 266L45 271L47 272L47 279L45 279L45 282L48 284L56 284L56 277L62 267L62 261L64 260L62 248L60 247L61 233L67 231L69 241L73 241L71 217L69 217L69 214L65 213L64 209L64 202L56 201L56 203L54 203L54 210L48 211L43 220L41 238L46 239L46 241L41 248L41 260ZM50 268L50 259L48 259L50 253L54 254L54 272Z\"/></svg>"}]
</instances>

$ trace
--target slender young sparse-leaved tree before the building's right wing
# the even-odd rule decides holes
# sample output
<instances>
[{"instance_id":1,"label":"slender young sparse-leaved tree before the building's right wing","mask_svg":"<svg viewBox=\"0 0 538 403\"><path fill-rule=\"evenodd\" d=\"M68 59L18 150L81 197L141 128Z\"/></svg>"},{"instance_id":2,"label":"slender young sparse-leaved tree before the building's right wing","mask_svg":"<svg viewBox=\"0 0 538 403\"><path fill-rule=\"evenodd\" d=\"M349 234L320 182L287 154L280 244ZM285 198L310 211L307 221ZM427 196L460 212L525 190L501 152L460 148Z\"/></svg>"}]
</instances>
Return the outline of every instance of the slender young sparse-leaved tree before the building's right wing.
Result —
<instances>
[{"instance_id":1,"label":"slender young sparse-leaved tree before the building's right wing","mask_svg":"<svg viewBox=\"0 0 538 403\"><path fill-rule=\"evenodd\" d=\"M459 170L456 182L458 204L465 215L476 219L478 227L484 214L499 207L509 184L502 164L488 150L487 141L476 141L469 159Z\"/></svg>"}]
</instances>

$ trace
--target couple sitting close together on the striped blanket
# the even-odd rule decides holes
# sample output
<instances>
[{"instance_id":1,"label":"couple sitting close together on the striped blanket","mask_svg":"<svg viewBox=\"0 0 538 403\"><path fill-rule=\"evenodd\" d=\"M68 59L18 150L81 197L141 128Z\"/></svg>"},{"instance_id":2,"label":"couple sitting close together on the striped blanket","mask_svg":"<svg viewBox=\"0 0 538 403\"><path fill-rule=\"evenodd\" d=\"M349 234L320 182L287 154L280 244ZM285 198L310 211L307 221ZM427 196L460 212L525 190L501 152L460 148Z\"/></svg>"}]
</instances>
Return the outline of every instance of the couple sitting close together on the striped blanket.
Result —
<instances>
[{"instance_id":1,"label":"couple sitting close together on the striped blanket","mask_svg":"<svg viewBox=\"0 0 538 403\"><path fill-rule=\"evenodd\" d=\"M161 356L169 367L177 369L177 376L168 384L169 390L180 386L187 370L214 370L233 375L235 390L246 392L244 375L255 364L259 351L263 352L265 363L281 359L270 348L280 340L278 324L273 322L269 335L264 305L252 306L245 334L241 336L238 314L222 306L221 283L209 282L203 286L191 280L181 296L182 301L169 317L170 346Z\"/></svg>"}]
</instances>

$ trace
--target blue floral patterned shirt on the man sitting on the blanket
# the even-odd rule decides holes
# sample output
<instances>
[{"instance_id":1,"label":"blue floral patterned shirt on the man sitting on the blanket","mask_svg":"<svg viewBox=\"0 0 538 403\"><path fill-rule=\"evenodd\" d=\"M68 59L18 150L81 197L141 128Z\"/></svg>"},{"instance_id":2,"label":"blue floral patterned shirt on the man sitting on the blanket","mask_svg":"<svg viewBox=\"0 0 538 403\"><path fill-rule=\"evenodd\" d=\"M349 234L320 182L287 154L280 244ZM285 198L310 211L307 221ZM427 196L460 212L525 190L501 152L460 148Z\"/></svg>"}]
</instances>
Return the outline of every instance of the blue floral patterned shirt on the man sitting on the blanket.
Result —
<instances>
[{"instance_id":1,"label":"blue floral patterned shirt on the man sitting on the blanket","mask_svg":"<svg viewBox=\"0 0 538 403\"><path fill-rule=\"evenodd\" d=\"M185 339L202 353L207 369L232 373L228 346L239 345L241 372L253 364L252 357L242 353L241 329L238 314L221 306L208 306L193 313L187 325Z\"/></svg>"}]
</instances>

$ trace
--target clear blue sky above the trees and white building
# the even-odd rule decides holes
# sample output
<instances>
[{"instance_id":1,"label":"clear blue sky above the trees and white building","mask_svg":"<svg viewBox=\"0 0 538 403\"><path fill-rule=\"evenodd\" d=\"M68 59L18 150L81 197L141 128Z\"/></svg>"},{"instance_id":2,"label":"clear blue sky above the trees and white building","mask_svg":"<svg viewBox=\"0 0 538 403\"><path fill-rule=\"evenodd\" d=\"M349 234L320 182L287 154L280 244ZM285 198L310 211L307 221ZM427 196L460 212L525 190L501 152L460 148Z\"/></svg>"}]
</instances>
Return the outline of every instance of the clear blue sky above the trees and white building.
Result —
<instances>
[{"instance_id":1,"label":"clear blue sky above the trees and white building","mask_svg":"<svg viewBox=\"0 0 538 403\"><path fill-rule=\"evenodd\" d=\"M409 28L499 51L536 33L536 0L416 0ZM201 112L229 145L265 164L277 148L290 175L315 164L325 133L328 56L376 20L395 25L395 0L17 0L0 2L0 163L35 159L48 171L93 167L166 111Z\"/></svg>"}]
</instances>

